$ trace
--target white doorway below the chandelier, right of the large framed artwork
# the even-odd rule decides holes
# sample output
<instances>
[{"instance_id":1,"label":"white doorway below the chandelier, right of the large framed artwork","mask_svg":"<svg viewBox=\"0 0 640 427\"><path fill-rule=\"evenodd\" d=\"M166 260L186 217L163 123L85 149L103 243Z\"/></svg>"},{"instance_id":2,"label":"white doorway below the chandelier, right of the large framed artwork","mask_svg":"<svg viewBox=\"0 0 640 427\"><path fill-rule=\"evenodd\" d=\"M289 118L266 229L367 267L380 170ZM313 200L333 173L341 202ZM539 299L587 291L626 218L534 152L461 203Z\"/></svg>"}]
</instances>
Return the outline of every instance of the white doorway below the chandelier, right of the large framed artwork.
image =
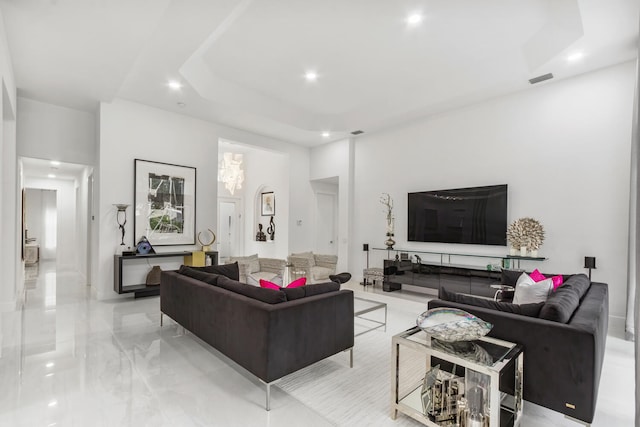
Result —
<instances>
[{"instance_id":1,"label":"white doorway below the chandelier, right of the large framed artwork","mask_svg":"<svg viewBox=\"0 0 640 427\"><path fill-rule=\"evenodd\" d=\"M242 242L242 200L218 198L218 262L242 255Z\"/></svg>"}]
</instances>

